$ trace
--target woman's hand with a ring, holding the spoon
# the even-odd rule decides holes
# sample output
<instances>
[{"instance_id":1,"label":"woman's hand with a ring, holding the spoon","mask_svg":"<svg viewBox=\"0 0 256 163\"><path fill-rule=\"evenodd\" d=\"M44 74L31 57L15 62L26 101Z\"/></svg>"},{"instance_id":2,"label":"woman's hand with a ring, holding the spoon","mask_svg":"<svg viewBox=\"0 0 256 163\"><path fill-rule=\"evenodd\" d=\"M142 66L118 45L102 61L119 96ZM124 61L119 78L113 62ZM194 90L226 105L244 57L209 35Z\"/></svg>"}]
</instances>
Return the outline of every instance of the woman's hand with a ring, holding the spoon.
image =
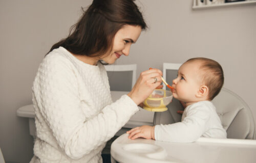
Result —
<instances>
[{"instance_id":1,"label":"woman's hand with a ring, holding the spoon","mask_svg":"<svg viewBox=\"0 0 256 163\"><path fill-rule=\"evenodd\" d=\"M162 83L161 75L162 71L159 69L151 69L141 72L132 91L127 95L139 105L150 96L156 88L162 88L162 86L160 86Z\"/></svg>"}]
</instances>

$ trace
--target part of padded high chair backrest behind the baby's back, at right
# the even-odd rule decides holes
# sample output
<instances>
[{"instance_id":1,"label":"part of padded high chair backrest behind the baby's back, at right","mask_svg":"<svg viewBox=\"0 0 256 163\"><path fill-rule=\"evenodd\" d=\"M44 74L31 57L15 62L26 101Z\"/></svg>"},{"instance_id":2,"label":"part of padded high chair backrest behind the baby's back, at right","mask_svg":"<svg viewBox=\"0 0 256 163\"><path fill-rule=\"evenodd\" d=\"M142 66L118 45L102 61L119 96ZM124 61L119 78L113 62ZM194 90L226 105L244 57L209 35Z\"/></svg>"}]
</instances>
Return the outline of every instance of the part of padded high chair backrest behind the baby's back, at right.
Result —
<instances>
[{"instance_id":1,"label":"part of padded high chair backrest behind the baby's back, at right","mask_svg":"<svg viewBox=\"0 0 256 163\"><path fill-rule=\"evenodd\" d=\"M249 106L241 97L222 88L212 103L216 106L222 126L227 131L227 138L253 139L254 120Z\"/></svg>"}]
</instances>

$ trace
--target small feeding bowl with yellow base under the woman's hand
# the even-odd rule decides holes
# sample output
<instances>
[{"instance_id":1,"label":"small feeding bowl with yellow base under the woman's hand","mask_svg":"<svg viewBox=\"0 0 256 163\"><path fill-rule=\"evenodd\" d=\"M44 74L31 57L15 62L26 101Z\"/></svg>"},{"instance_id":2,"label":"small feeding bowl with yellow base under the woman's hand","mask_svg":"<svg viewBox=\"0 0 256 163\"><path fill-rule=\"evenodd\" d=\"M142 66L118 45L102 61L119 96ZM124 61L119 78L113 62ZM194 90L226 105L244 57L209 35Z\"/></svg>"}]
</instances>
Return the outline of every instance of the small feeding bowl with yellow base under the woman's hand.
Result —
<instances>
[{"instance_id":1,"label":"small feeding bowl with yellow base under the woman's hand","mask_svg":"<svg viewBox=\"0 0 256 163\"><path fill-rule=\"evenodd\" d=\"M173 94L171 91L155 89L150 96L143 101L144 110L151 112L167 111L167 105L172 102Z\"/></svg>"}]
</instances>

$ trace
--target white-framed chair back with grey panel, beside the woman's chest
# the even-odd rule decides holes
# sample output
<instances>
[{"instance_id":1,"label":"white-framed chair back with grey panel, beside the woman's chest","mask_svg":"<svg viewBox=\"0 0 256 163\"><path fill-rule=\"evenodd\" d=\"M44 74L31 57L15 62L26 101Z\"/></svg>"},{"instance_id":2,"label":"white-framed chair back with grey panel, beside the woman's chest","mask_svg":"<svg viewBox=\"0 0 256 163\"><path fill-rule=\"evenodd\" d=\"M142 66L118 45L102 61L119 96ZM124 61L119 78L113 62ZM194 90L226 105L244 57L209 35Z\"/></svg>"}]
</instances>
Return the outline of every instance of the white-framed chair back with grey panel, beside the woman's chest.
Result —
<instances>
[{"instance_id":1,"label":"white-framed chair back with grey panel, beside the woman's chest","mask_svg":"<svg viewBox=\"0 0 256 163\"><path fill-rule=\"evenodd\" d=\"M131 91L136 83L137 65L105 65L111 91Z\"/></svg>"}]
</instances>

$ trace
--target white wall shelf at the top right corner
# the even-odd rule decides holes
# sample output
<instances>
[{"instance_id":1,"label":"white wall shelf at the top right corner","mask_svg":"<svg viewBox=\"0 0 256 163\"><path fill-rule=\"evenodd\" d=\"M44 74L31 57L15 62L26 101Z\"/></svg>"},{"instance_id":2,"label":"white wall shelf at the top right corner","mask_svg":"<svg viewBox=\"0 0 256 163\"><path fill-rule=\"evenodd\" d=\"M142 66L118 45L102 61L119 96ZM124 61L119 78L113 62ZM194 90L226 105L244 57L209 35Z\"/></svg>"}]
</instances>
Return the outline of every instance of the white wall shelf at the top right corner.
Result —
<instances>
[{"instance_id":1,"label":"white wall shelf at the top right corner","mask_svg":"<svg viewBox=\"0 0 256 163\"><path fill-rule=\"evenodd\" d=\"M230 2L223 4L211 4L211 5L197 5L197 0L194 0L192 9L207 9L207 8L218 8L218 7L227 7L227 6L242 6L242 5L256 5L256 1L240 1L240 2Z\"/></svg>"}]
</instances>

